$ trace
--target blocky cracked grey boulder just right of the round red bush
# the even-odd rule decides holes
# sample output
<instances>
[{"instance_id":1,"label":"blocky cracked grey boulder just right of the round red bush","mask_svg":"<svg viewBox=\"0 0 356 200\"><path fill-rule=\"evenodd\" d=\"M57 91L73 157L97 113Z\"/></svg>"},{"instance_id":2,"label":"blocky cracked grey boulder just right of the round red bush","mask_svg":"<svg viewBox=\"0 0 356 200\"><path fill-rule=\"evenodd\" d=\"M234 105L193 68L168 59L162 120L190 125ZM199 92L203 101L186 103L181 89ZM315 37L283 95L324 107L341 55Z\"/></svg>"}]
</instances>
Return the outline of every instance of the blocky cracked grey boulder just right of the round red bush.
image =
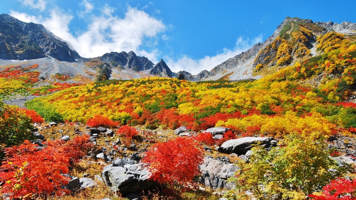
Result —
<instances>
[{"instance_id":1,"label":"blocky cracked grey boulder just right of the round red bush","mask_svg":"<svg viewBox=\"0 0 356 200\"><path fill-rule=\"evenodd\" d=\"M201 184L214 189L231 189L227 179L232 177L239 168L232 163L223 162L212 157L205 157L204 163L199 166L201 171Z\"/></svg>"}]
</instances>

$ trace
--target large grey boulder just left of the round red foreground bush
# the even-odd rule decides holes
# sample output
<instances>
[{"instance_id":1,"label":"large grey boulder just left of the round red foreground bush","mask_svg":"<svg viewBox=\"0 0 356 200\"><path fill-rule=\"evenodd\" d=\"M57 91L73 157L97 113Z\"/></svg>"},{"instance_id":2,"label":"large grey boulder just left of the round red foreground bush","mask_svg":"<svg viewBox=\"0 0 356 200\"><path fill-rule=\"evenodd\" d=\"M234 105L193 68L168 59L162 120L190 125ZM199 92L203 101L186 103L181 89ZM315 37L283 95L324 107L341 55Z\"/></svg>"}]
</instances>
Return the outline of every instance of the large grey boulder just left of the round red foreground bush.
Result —
<instances>
[{"instance_id":1,"label":"large grey boulder just left of the round red foreground bush","mask_svg":"<svg viewBox=\"0 0 356 200\"><path fill-rule=\"evenodd\" d=\"M132 161L124 159L116 161L115 165L110 164L104 168L101 176L105 185L124 196L130 193L140 193L157 186L156 182L148 180L151 174L141 164L126 163L132 163Z\"/></svg>"}]
</instances>

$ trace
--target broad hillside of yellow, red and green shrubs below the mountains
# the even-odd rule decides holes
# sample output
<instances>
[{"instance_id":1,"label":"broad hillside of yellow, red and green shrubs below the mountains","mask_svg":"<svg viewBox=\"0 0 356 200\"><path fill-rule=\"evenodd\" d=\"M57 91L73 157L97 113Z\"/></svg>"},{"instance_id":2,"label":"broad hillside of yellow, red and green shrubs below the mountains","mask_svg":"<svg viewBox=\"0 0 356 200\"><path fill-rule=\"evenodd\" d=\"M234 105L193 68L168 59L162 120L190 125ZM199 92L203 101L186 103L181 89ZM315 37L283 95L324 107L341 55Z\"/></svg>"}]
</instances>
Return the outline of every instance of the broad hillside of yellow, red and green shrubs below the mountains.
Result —
<instances>
[{"instance_id":1,"label":"broad hillside of yellow, red and green shrubs below the mountains","mask_svg":"<svg viewBox=\"0 0 356 200\"><path fill-rule=\"evenodd\" d=\"M326 134L354 132L356 44L328 43L329 37L342 36L331 32L318 38L324 54L256 81L106 80L36 98L27 106L49 121L85 123L101 115L150 128L224 125L245 135L283 136L306 127Z\"/></svg>"}]
</instances>

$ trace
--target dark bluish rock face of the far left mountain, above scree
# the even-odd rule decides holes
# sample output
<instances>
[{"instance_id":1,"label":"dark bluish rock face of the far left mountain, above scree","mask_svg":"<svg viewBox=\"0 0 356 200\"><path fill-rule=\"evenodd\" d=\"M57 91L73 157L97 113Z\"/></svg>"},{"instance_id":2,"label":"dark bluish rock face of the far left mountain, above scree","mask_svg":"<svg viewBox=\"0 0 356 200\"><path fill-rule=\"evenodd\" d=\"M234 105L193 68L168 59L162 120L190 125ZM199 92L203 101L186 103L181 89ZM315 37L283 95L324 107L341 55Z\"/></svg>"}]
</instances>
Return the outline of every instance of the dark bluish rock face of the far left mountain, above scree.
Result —
<instances>
[{"instance_id":1,"label":"dark bluish rock face of the far left mountain, above scree","mask_svg":"<svg viewBox=\"0 0 356 200\"><path fill-rule=\"evenodd\" d=\"M0 58L31 60L53 57L74 62L79 54L41 24L25 23L7 15L0 15Z\"/></svg>"}]
</instances>

